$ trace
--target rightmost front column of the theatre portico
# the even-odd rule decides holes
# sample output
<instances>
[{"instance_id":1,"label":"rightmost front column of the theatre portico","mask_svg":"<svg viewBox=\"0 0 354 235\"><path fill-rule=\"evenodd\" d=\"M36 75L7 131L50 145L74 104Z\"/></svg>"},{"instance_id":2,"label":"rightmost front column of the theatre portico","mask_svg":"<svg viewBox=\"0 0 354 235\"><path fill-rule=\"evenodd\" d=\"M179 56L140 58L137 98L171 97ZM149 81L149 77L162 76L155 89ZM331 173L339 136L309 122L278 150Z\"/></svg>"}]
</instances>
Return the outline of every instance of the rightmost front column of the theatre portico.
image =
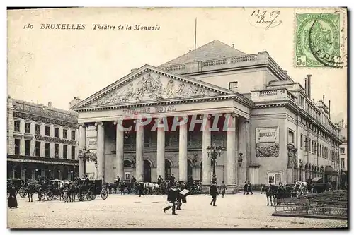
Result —
<instances>
[{"instance_id":1,"label":"rightmost front column of the theatre portico","mask_svg":"<svg viewBox=\"0 0 354 235\"><path fill-rule=\"evenodd\" d=\"M236 157L236 115L229 114L227 119L227 185L235 186Z\"/></svg>"}]
</instances>

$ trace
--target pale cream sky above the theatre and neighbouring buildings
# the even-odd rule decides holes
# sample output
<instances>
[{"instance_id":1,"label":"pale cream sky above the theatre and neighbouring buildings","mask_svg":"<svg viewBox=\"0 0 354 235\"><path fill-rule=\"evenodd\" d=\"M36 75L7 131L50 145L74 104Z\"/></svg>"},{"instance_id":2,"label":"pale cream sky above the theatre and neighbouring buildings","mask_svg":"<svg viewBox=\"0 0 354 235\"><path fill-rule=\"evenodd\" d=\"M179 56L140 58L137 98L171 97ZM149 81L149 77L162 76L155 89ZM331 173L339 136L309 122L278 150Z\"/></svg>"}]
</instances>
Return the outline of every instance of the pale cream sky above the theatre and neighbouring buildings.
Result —
<instances>
[{"instance_id":1,"label":"pale cream sky above the theatre and neighbouring buildings","mask_svg":"<svg viewBox=\"0 0 354 235\"><path fill-rule=\"evenodd\" d=\"M295 68L295 9L279 11L281 23L265 29L252 17L258 8L67 8L8 12L8 95L69 109L144 64L159 66L212 40L246 54L267 51L296 82L312 74L312 98L331 100L331 119L347 120L347 71ZM81 24L84 30L43 30L42 24ZM93 24L115 30L93 30ZM119 25L159 30L117 30ZM33 25L33 26L31 26Z\"/></svg>"}]
</instances>

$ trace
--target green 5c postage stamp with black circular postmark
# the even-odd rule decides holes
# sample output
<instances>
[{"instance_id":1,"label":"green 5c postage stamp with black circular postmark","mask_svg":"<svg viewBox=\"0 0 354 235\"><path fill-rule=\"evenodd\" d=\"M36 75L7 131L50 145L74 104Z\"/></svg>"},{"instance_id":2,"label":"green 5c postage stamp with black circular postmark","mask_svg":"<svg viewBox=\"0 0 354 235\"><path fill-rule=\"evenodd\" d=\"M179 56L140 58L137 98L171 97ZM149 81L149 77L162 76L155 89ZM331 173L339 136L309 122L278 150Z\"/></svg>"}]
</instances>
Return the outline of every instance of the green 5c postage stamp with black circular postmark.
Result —
<instances>
[{"instance_id":1,"label":"green 5c postage stamp with black circular postmark","mask_svg":"<svg viewBox=\"0 0 354 235\"><path fill-rule=\"evenodd\" d=\"M295 14L295 67L342 68L340 13Z\"/></svg>"}]
</instances>

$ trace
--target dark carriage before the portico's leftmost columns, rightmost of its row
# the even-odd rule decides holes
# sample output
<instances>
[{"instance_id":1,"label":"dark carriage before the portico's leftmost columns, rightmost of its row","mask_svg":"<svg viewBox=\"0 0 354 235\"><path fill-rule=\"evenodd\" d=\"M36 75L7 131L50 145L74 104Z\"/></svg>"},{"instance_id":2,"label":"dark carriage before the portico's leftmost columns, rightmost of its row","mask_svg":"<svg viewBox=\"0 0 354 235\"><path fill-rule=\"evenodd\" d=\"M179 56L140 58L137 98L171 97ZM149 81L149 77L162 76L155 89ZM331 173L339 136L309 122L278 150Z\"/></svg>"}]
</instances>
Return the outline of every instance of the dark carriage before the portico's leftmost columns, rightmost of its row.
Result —
<instances>
[{"instance_id":1,"label":"dark carriage before the portico's leftmost columns, rightmost of its row","mask_svg":"<svg viewBox=\"0 0 354 235\"><path fill-rule=\"evenodd\" d=\"M103 200L108 197L107 188L103 186L101 179L90 179L87 184L81 183L78 186L77 197L79 200L84 200L85 196L87 200L95 200L96 195L101 195Z\"/></svg>"}]
</instances>

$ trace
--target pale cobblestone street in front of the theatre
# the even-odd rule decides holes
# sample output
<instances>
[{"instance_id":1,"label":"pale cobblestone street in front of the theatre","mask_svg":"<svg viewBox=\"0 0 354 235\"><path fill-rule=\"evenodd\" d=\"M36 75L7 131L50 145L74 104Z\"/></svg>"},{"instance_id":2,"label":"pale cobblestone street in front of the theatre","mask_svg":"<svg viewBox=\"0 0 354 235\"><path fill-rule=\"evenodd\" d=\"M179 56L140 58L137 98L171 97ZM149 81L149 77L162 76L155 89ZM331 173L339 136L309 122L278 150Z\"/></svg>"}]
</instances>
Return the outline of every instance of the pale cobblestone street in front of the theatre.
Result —
<instances>
[{"instance_id":1,"label":"pale cobblestone street in front of the theatre","mask_svg":"<svg viewBox=\"0 0 354 235\"><path fill-rule=\"evenodd\" d=\"M226 195L210 206L210 195L189 195L183 210L164 214L166 196L108 195L93 201L63 203L18 197L18 209L8 209L10 228L333 228L343 220L273 217L265 195ZM178 218L178 219L177 219Z\"/></svg>"}]
</instances>

